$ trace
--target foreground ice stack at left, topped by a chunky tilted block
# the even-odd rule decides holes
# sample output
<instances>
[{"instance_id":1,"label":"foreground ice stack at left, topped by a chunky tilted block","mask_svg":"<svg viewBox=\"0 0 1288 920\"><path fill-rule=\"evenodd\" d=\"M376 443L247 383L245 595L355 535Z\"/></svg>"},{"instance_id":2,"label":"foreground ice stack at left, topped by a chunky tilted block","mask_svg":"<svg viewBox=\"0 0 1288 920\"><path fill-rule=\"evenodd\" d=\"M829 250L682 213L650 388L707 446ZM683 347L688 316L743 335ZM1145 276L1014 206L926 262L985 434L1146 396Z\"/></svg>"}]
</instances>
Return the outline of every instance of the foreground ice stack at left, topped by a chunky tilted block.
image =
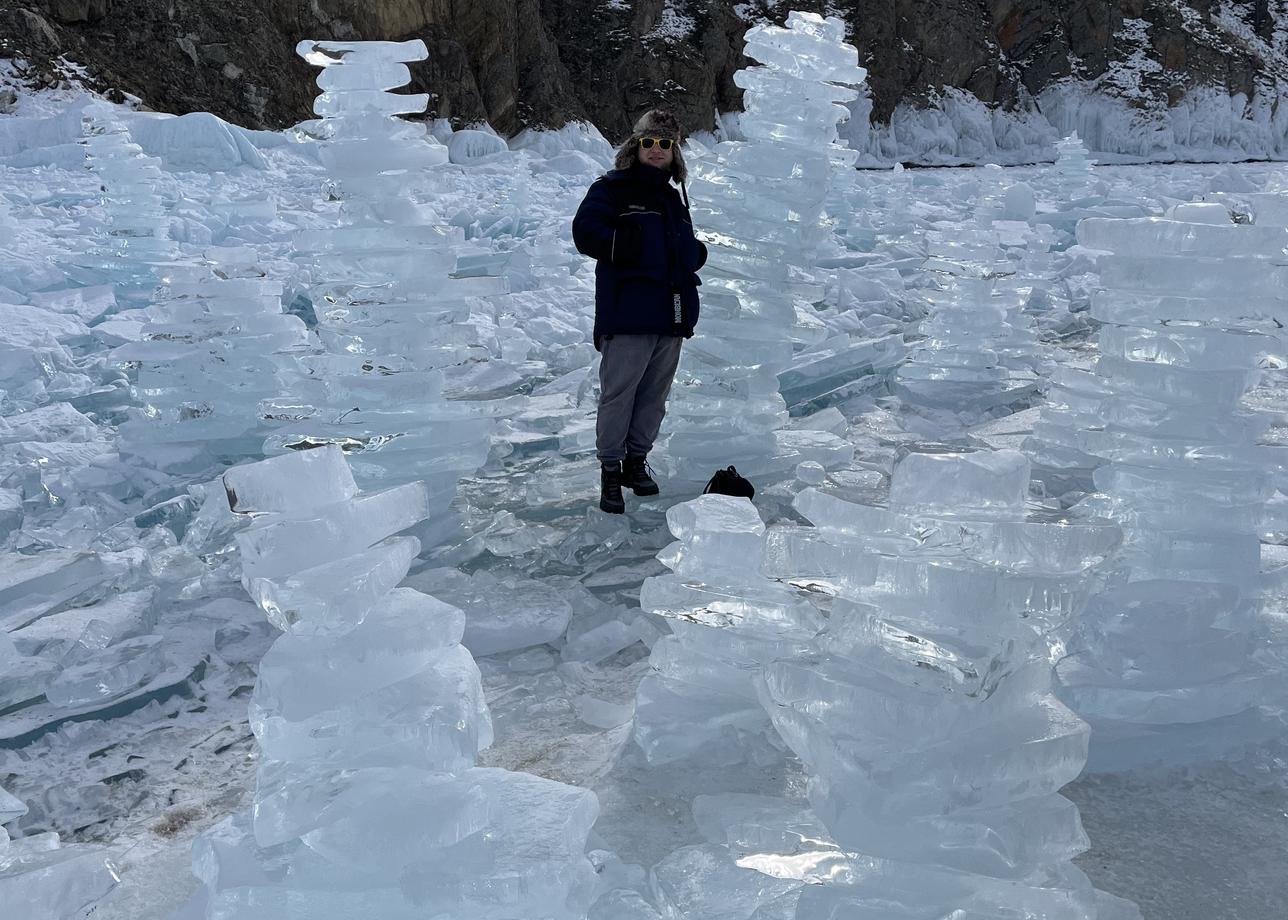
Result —
<instances>
[{"instance_id":1,"label":"foreground ice stack at left, topped by a chunky tilted block","mask_svg":"<svg viewBox=\"0 0 1288 920\"><path fill-rule=\"evenodd\" d=\"M361 494L337 447L224 474L243 584L285 631L250 722L254 814L204 835L209 920L573 920L592 792L475 768L492 729L459 609L397 585L420 483Z\"/></svg>"}]
</instances>

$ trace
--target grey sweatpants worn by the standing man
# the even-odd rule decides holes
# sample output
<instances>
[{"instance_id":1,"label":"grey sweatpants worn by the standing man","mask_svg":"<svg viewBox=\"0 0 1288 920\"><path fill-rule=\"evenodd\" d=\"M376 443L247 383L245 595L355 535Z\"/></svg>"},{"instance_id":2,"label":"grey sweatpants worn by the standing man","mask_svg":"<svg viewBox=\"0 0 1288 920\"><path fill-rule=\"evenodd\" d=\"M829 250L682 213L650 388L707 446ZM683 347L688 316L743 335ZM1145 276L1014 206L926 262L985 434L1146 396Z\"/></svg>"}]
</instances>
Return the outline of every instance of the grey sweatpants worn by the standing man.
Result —
<instances>
[{"instance_id":1,"label":"grey sweatpants worn by the standing man","mask_svg":"<svg viewBox=\"0 0 1288 920\"><path fill-rule=\"evenodd\" d=\"M599 343L595 447L600 461L652 450L683 341L679 335L614 335Z\"/></svg>"}]
</instances>

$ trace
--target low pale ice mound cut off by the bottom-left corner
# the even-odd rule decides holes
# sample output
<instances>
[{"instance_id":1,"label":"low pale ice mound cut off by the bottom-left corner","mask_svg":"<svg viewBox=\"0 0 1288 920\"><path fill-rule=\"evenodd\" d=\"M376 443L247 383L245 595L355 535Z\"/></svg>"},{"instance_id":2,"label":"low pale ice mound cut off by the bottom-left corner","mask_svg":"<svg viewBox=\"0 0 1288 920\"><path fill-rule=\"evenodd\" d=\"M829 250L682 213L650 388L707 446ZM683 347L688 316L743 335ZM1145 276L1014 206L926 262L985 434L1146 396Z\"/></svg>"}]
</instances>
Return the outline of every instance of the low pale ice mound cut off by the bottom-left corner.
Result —
<instances>
[{"instance_id":1,"label":"low pale ice mound cut off by the bottom-left corner","mask_svg":"<svg viewBox=\"0 0 1288 920\"><path fill-rule=\"evenodd\" d=\"M85 916L116 888L112 863L98 847L62 847L57 834L9 839L4 825L27 807L0 789L0 905L6 917L70 920Z\"/></svg>"}]
</instances>

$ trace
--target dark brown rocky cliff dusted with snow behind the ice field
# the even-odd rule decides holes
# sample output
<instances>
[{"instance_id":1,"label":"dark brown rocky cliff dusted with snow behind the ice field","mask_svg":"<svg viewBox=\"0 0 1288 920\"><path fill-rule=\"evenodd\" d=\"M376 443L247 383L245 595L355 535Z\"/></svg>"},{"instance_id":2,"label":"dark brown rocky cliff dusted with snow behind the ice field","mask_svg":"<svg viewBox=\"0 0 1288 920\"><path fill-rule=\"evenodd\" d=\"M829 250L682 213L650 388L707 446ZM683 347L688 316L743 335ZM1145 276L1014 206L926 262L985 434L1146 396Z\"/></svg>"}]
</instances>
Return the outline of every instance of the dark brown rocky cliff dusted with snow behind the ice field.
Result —
<instances>
[{"instance_id":1,"label":"dark brown rocky cliff dusted with snow behind the ice field","mask_svg":"<svg viewBox=\"0 0 1288 920\"><path fill-rule=\"evenodd\" d=\"M1166 107L1200 86L1278 99L1288 75L1288 0L10 0L0 54L281 128L316 91L300 39L420 37L413 89L437 94L434 115L511 134L586 119L617 138L657 103L689 129L739 108L743 31L790 9L846 19L875 121L948 88L1015 108L1077 80Z\"/></svg>"}]
</instances>

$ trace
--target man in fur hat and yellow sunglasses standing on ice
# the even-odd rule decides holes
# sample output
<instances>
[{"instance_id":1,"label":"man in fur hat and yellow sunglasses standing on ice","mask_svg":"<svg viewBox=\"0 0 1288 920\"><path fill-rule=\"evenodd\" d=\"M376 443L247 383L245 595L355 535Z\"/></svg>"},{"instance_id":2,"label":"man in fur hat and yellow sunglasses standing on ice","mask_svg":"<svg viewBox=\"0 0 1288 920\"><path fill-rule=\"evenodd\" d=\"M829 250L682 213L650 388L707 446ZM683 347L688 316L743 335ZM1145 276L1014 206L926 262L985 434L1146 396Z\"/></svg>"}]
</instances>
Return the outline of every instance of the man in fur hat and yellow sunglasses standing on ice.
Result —
<instances>
[{"instance_id":1,"label":"man in fur hat and yellow sunglasses standing on ice","mask_svg":"<svg viewBox=\"0 0 1288 920\"><path fill-rule=\"evenodd\" d=\"M696 272L707 247L693 235L683 187L680 122L647 112L617 160L591 184L572 222L577 251L595 259L595 348L600 353L595 447L599 506L622 514L622 487L657 495L649 475L680 343L698 322Z\"/></svg>"}]
</instances>

